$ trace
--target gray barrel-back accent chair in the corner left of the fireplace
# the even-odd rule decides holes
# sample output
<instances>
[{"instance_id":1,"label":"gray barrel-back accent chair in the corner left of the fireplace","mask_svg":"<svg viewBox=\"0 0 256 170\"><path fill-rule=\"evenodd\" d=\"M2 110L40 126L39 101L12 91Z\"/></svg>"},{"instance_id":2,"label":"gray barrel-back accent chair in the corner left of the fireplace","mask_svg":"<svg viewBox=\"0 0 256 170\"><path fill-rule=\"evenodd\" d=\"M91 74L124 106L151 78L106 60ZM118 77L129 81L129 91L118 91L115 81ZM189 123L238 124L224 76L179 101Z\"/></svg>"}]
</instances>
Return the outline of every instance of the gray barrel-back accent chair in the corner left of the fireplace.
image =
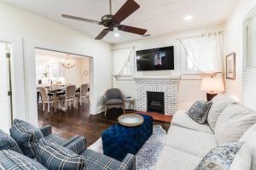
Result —
<instances>
[{"instance_id":1,"label":"gray barrel-back accent chair in the corner left of the fireplace","mask_svg":"<svg viewBox=\"0 0 256 170\"><path fill-rule=\"evenodd\" d=\"M105 116L107 115L107 111L112 107L123 108L123 112L125 114L125 97L124 94L119 90L119 88L110 88L104 94L104 110Z\"/></svg>"}]
</instances>

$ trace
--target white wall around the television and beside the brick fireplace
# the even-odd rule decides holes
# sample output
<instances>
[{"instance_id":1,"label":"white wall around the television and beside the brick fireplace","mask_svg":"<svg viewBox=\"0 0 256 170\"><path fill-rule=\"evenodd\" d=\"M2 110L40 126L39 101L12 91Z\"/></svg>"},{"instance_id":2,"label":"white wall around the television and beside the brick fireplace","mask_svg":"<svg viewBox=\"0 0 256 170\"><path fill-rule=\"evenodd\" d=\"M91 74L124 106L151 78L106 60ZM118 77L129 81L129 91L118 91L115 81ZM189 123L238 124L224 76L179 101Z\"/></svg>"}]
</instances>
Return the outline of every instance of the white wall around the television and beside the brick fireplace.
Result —
<instances>
[{"instance_id":1,"label":"white wall around the television and beside the brick fireplace","mask_svg":"<svg viewBox=\"0 0 256 170\"><path fill-rule=\"evenodd\" d=\"M183 66L185 62L181 61L180 43L177 38L197 36L212 31L223 30L223 26L211 26L207 28L177 32L176 34L165 35L161 37L148 37L144 40L125 42L116 44L113 48L124 48L135 46L137 50L147 48L159 48L166 46L174 46L175 50L175 70L174 71L140 71L135 72L136 76L180 76L183 75ZM201 76L185 76L181 77L178 92L178 109L188 109L195 100L206 99L206 92L201 91ZM117 81L113 82L114 87L120 88L126 96L136 98L136 83L132 77L118 77Z\"/></svg>"}]
</instances>

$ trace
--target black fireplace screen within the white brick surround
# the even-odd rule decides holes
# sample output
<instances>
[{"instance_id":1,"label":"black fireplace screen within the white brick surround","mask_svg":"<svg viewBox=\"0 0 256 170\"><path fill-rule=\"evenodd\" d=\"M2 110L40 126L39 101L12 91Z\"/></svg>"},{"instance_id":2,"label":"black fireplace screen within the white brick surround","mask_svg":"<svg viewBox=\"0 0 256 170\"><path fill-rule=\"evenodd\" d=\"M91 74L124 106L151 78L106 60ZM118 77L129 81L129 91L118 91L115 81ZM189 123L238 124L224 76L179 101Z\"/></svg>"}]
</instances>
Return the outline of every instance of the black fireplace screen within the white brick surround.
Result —
<instances>
[{"instance_id":1,"label":"black fireplace screen within the white brick surround","mask_svg":"<svg viewBox=\"0 0 256 170\"><path fill-rule=\"evenodd\" d=\"M165 114L164 92L147 92L148 111Z\"/></svg>"}]
</instances>

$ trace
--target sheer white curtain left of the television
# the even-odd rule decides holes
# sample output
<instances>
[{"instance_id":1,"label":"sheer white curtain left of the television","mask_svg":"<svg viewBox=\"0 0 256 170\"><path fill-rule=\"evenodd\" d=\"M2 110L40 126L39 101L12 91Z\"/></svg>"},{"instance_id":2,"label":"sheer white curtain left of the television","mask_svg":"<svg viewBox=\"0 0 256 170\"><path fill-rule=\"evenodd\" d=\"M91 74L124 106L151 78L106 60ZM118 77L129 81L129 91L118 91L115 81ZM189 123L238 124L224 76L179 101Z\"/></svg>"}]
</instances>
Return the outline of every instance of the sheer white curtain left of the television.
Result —
<instances>
[{"instance_id":1,"label":"sheer white curtain left of the television","mask_svg":"<svg viewBox=\"0 0 256 170\"><path fill-rule=\"evenodd\" d=\"M120 48L113 50L113 76L121 76L125 65L130 61L134 48Z\"/></svg>"}]
</instances>

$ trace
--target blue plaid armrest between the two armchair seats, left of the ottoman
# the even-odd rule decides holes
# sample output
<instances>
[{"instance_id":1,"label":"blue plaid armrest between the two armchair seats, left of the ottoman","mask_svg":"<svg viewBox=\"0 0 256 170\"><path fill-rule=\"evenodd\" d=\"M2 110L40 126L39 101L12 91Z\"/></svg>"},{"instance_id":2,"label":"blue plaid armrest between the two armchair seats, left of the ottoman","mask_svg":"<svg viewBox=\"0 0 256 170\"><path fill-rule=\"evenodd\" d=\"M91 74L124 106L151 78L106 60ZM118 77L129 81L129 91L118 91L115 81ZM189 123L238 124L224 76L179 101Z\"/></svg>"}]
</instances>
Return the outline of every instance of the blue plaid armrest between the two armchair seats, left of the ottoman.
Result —
<instances>
[{"instance_id":1,"label":"blue plaid armrest between the two armchair seats, left of the ottoman","mask_svg":"<svg viewBox=\"0 0 256 170\"><path fill-rule=\"evenodd\" d=\"M70 144L67 144L65 148L72 150L76 154L80 154L86 149L86 139L83 136L80 136L77 139L74 139Z\"/></svg>"}]
</instances>

